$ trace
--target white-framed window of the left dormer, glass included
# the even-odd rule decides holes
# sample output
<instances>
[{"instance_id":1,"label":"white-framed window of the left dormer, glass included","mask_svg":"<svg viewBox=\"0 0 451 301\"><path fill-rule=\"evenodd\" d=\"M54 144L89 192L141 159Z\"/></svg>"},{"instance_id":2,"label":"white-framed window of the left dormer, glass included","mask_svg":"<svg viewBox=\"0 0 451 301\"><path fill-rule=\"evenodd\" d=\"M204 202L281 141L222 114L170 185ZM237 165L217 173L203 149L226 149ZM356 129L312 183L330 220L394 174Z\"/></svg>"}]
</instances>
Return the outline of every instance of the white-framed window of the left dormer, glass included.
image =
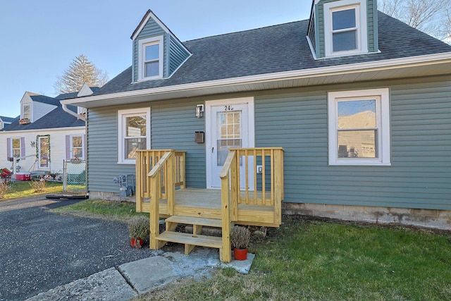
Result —
<instances>
[{"instance_id":1,"label":"white-framed window of the left dormer, glass included","mask_svg":"<svg viewBox=\"0 0 451 301\"><path fill-rule=\"evenodd\" d=\"M138 80L163 77L163 36L140 40Z\"/></svg>"}]
</instances>

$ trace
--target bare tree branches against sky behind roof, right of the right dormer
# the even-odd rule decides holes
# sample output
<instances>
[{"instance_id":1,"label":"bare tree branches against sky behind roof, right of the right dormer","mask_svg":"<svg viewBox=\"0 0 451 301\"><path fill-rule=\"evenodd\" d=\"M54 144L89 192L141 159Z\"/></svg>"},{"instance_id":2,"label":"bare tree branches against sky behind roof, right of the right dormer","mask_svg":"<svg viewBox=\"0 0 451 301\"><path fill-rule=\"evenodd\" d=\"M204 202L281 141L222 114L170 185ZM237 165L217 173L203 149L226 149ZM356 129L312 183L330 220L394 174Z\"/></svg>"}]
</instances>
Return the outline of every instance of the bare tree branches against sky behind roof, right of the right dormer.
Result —
<instances>
[{"instance_id":1,"label":"bare tree branches against sky behind roof, right of the right dormer","mask_svg":"<svg viewBox=\"0 0 451 301\"><path fill-rule=\"evenodd\" d=\"M450 34L450 0L380 0L378 8L438 39Z\"/></svg>"}]
</instances>

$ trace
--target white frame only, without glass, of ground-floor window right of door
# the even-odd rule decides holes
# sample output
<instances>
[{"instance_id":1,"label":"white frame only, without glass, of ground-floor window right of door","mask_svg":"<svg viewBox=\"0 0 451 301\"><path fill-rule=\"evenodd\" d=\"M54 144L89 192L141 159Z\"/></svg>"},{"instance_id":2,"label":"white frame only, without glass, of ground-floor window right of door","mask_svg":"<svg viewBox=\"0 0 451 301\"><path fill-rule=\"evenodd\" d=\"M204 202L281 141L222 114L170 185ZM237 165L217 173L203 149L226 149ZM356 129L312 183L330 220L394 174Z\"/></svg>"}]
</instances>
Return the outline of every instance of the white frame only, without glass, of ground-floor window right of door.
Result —
<instances>
[{"instance_id":1,"label":"white frame only, without glass, of ground-floor window right of door","mask_svg":"<svg viewBox=\"0 0 451 301\"><path fill-rule=\"evenodd\" d=\"M388 88L328 92L329 165L390 166L390 99ZM338 158L338 101L376 99L377 158Z\"/></svg>"}]
</instances>

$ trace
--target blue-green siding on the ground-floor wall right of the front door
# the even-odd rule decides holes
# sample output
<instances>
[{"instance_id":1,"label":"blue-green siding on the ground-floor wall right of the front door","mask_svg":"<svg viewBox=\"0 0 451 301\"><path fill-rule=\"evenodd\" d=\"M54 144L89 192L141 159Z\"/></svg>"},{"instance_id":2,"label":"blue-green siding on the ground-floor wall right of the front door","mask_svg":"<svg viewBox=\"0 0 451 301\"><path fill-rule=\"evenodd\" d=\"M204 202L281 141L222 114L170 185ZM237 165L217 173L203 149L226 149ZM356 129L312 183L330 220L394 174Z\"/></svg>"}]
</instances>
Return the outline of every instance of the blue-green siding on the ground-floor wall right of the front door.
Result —
<instances>
[{"instance_id":1,"label":"blue-green siding on the ground-floor wall right of the front door","mask_svg":"<svg viewBox=\"0 0 451 301\"><path fill-rule=\"evenodd\" d=\"M328 166L327 92L390 88L391 166ZM451 78L256 97L256 146L285 149L284 202L451 209Z\"/></svg>"}]
</instances>

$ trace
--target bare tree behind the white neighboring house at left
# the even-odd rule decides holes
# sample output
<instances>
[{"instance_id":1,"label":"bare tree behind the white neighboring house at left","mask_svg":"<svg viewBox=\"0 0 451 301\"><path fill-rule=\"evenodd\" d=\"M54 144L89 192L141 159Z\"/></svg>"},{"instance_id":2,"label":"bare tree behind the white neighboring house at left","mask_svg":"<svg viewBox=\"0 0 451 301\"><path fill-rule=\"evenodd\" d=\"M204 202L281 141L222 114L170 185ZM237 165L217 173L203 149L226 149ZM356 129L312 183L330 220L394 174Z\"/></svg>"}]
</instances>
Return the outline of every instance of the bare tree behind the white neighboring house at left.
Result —
<instances>
[{"instance_id":1,"label":"bare tree behind the white neighboring house at left","mask_svg":"<svg viewBox=\"0 0 451 301\"><path fill-rule=\"evenodd\" d=\"M108 73L94 66L84 54L76 56L69 68L54 83L55 92L71 93L80 90L84 83L91 87L101 87L108 81Z\"/></svg>"}]
</instances>

